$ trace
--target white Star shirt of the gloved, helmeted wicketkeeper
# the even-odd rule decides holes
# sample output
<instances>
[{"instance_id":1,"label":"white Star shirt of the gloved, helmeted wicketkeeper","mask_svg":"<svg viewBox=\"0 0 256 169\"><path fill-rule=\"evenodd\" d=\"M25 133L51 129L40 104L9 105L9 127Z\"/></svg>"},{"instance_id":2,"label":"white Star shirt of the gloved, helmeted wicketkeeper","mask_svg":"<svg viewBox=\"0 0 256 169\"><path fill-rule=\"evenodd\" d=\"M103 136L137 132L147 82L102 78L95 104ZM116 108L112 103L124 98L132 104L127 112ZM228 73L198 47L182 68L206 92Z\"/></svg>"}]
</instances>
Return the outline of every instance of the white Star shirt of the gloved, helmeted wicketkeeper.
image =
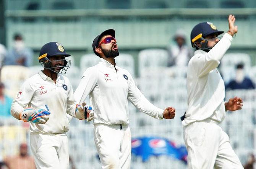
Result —
<instances>
[{"instance_id":1,"label":"white Star shirt of the gloved, helmeted wicketkeeper","mask_svg":"<svg viewBox=\"0 0 256 169\"><path fill-rule=\"evenodd\" d=\"M19 113L26 106L47 109L49 120L45 124L30 123L32 133L63 134L69 130L66 113L75 117L75 98L70 81L58 74L56 84L42 71L27 79L11 105L11 114L19 119Z\"/></svg>"}]
</instances>

